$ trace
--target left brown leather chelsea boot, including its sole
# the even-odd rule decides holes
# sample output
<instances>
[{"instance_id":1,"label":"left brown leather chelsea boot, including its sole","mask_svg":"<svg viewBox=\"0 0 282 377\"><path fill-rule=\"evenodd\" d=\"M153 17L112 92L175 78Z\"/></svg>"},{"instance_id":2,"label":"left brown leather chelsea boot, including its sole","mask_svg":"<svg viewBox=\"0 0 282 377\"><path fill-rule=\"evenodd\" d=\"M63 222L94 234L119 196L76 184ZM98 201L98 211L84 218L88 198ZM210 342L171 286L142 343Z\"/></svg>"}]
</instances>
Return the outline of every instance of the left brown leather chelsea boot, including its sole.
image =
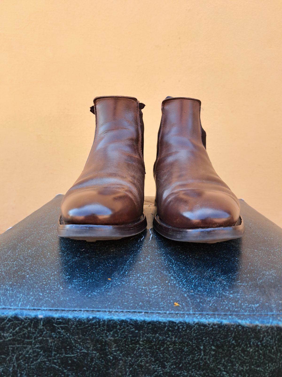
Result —
<instances>
[{"instance_id":1,"label":"left brown leather chelsea boot, including its sole","mask_svg":"<svg viewBox=\"0 0 282 377\"><path fill-rule=\"evenodd\" d=\"M82 173L62 200L60 237L119 239L146 228L144 106L133 97L94 99L94 142Z\"/></svg>"}]
</instances>

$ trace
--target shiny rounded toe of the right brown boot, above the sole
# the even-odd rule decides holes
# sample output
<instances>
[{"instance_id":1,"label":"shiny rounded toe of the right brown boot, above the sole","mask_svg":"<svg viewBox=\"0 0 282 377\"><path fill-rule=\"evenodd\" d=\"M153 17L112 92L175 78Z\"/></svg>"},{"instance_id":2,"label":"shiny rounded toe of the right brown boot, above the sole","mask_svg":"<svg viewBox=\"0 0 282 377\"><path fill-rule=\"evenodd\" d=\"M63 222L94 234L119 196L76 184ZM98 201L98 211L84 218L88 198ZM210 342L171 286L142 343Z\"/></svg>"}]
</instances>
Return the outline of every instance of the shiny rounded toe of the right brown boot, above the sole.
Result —
<instances>
[{"instance_id":1,"label":"shiny rounded toe of the right brown boot, above the sole","mask_svg":"<svg viewBox=\"0 0 282 377\"><path fill-rule=\"evenodd\" d=\"M186 190L168 196L158 215L176 228L215 228L236 224L240 216L237 198L222 192Z\"/></svg>"}]
</instances>

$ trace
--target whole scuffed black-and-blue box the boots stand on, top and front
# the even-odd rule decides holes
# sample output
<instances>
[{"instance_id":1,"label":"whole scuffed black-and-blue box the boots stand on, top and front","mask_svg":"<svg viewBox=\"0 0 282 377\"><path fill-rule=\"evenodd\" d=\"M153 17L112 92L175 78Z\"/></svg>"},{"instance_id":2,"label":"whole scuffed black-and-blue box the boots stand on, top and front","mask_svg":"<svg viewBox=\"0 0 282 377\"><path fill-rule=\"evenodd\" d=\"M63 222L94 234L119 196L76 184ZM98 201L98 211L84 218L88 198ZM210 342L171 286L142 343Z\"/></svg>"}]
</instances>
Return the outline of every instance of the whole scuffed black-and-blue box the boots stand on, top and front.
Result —
<instances>
[{"instance_id":1,"label":"whole scuffed black-and-blue box the boots stand on, top and front","mask_svg":"<svg viewBox=\"0 0 282 377\"><path fill-rule=\"evenodd\" d=\"M243 239L173 242L147 199L146 231L89 243L61 199L0 236L1 376L282 375L281 228L240 201Z\"/></svg>"}]
</instances>

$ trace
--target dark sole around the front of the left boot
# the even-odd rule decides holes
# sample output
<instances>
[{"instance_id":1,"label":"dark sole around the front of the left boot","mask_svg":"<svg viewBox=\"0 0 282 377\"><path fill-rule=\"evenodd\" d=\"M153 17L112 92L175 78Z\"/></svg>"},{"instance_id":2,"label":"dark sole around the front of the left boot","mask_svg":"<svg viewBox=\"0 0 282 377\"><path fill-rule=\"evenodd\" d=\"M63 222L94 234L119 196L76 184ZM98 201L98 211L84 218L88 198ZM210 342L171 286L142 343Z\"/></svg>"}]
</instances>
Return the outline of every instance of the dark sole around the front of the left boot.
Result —
<instances>
[{"instance_id":1,"label":"dark sole around the front of the left boot","mask_svg":"<svg viewBox=\"0 0 282 377\"><path fill-rule=\"evenodd\" d=\"M123 225L68 224L60 216L58 236L94 242L135 236L135 234L145 230L146 227L147 219L144 213L137 221Z\"/></svg>"}]
</instances>

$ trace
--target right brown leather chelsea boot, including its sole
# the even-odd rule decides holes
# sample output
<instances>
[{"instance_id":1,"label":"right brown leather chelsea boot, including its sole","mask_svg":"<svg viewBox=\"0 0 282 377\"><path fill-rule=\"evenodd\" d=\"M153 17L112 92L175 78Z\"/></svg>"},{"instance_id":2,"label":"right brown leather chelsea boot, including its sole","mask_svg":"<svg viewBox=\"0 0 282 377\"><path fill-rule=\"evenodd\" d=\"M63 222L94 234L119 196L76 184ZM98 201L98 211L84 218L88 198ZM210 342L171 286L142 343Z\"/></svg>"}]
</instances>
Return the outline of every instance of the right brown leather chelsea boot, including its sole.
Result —
<instances>
[{"instance_id":1,"label":"right brown leather chelsea boot, including its sole","mask_svg":"<svg viewBox=\"0 0 282 377\"><path fill-rule=\"evenodd\" d=\"M162 102L153 226L176 241L239 238L244 234L240 204L209 160L200 107L201 102L193 98L167 97Z\"/></svg>"}]
</instances>

